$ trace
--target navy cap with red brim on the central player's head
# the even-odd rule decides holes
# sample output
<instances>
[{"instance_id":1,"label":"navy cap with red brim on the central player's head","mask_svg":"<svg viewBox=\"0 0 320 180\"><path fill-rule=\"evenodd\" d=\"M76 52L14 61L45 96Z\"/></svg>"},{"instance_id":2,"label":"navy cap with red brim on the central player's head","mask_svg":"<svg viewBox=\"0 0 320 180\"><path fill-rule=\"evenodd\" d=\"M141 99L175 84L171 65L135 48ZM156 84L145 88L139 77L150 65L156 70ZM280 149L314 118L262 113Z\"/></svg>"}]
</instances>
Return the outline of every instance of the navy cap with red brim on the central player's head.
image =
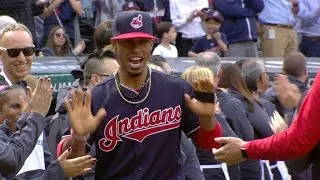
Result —
<instances>
[{"instance_id":1,"label":"navy cap with red brim on the central player's head","mask_svg":"<svg viewBox=\"0 0 320 180\"><path fill-rule=\"evenodd\" d=\"M132 39L149 38L157 39L153 36L152 18L142 11L121 12L113 21L111 39Z\"/></svg>"}]
</instances>

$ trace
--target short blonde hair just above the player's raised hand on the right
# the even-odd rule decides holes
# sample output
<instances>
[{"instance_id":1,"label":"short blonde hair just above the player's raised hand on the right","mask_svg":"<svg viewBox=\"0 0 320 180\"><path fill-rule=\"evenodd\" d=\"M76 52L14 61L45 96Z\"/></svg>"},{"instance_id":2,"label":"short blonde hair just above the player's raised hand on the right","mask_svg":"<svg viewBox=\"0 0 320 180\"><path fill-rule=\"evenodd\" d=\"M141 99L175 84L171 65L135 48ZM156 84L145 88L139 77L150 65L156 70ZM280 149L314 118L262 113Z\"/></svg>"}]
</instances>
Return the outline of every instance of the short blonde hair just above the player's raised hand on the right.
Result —
<instances>
[{"instance_id":1,"label":"short blonde hair just above the player's raised hand on the right","mask_svg":"<svg viewBox=\"0 0 320 180\"><path fill-rule=\"evenodd\" d=\"M189 84L192 84L194 80L209 78L214 79L213 72L207 68L202 66L193 66L186 69L182 74L181 78L186 80Z\"/></svg>"}]
</instances>

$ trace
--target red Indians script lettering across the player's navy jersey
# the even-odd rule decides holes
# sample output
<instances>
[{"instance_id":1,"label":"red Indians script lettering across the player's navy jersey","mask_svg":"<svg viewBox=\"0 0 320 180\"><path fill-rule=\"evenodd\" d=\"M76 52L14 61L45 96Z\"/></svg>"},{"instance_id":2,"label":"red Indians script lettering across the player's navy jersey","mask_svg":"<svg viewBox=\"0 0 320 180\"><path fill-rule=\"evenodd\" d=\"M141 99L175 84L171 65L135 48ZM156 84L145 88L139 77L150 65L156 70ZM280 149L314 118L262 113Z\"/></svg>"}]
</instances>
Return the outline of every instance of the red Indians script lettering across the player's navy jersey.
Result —
<instances>
[{"instance_id":1,"label":"red Indians script lettering across the player's navy jersey","mask_svg":"<svg viewBox=\"0 0 320 180\"><path fill-rule=\"evenodd\" d=\"M141 143L148 136L180 127L181 116L180 105L152 112L149 108L143 108L133 117L123 119L119 119L117 115L111 118L104 128L104 138L98 141L99 148L104 152L110 152L122 138Z\"/></svg>"}]
</instances>

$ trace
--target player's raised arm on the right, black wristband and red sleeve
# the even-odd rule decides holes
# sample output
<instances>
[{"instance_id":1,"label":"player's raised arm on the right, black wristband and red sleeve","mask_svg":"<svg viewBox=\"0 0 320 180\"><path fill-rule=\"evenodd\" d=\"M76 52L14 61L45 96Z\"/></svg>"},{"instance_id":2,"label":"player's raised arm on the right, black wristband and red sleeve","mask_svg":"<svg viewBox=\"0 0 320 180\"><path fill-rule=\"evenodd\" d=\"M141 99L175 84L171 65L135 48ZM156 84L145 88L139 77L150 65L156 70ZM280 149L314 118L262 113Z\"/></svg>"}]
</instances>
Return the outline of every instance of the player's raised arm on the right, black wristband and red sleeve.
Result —
<instances>
[{"instance_id":1,"label":"player's raised arm on the right, black wristband and red sleeve","mask_svg":"<svg viewBox=\"0 0 320 180\"><path fill-rule=\"evenodd\" d=\"M185 94L185 102L191 114L198 116L199 128L192 133L194 142L202 149L220 147L214 141L221 137L222 129L215 116L215 85L212 80L201 79L193 82L194 98L189 93ZM188 110L186 110L188 112ZM188 114L188 121L191 114ZM185 116L184 116L185 117ZM190 134L188 134L190 136Z\"/></svg>"}]
</instances>

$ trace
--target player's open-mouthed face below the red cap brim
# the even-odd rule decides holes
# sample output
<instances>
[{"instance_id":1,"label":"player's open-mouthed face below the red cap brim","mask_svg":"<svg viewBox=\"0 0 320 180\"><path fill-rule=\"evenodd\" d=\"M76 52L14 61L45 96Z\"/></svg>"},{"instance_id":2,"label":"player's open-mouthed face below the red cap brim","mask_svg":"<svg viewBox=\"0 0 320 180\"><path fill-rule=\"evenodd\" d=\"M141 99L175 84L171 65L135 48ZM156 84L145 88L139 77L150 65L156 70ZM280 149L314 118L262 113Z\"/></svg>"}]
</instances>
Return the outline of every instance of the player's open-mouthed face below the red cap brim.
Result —
<instances>
[{"instance_id":1,"label":"player's open-mouthed face below the red cap brim","mask_svg":"<svg viewBox=\"0 0 320 180\"><path fill-rule=\"evenodd\" d=\"M148 38L133 38L114 41L120 69L129 75L140 76L146 69L153 41Z\"/></svg>"}]
</instances>

